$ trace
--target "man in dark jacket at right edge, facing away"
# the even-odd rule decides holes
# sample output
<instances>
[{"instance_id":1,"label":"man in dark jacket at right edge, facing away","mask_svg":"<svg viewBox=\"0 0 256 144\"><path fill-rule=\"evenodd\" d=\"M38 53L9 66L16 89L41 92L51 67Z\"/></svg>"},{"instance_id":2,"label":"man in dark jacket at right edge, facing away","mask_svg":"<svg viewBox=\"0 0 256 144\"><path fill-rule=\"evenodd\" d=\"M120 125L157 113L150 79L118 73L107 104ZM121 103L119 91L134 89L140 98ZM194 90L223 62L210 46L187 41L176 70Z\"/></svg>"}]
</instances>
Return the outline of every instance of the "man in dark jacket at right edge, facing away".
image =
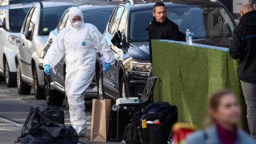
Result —
<instances>
[{"instance_id":1,"label":"man in dark jacket at right edge, facing away","mask_svg":"<svg viewBox=\"0 0 256 144\"><path fill-rule=\"evenodd\" d=\"M233 31L229 54L233 59L239 58L237 75L247 105L251 136L256 139L256 11L250 3L244 3L240 13L242 18Z\"/></svg>"}]
</instances>

